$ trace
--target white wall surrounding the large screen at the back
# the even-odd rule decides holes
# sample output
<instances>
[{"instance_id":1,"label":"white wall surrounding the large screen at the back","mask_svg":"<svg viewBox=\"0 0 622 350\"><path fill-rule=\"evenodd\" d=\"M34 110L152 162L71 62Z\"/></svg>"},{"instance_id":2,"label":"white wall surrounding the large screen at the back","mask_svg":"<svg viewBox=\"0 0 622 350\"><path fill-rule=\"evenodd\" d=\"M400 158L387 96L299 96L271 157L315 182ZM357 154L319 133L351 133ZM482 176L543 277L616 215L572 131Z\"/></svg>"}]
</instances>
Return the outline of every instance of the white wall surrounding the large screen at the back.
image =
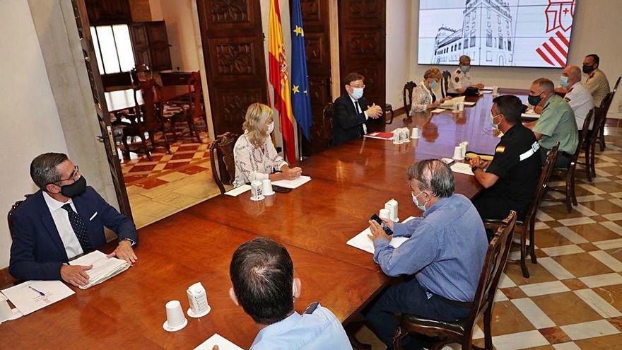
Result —
<instances>
[{"instance_id":1,"label":"white wall surrounding the large screen at the back","mask_svg":"<svg viewBox=\"0 0 622 350\"><path fill-rule=\"evenodd\" d=\"M389 18L389 4L398 2L387 0L387 78L389 69L394 69L396 65L389 62L391 56L389 52L389 23L394 18ZM411 81L421 81L423 72L430 68L429 65L418 65L417 62L417 41L418 41L418 18L419 1L408 1L411 8L404 6L404 12L410 11L410 30L404 35L409 35L410 54L409 66L411 67L409 79ZM622 46L619 38L622 32L622 20L620 18L622 1L620 0L582 0L577 1L575 9L575 19L573 36L568 52L568 63L581 66L586 54L597 53L601 59L600 68L609 78L609 85L614 87L616 78L622 74ZM394 5L391 5L394 6ZM397 9L392 9L393 16L399 16ZM397 13L397 15L396 15ZM452 66L438 66L439 69L452 69ZM475 81L481 81L486 85L498 85L506 88L529 88L529 85L536 78L546 77L554 83L558 83L561 69L545 68L511 68L511 67L476 67L471 69L471 77ZM406 79L402 79L401 86L404 86ZM388 88L387 80L387 88ZM391 91L391 93L394 93ZM400 93L401 95L401 93ZM389 90L387 89L387 100ZM401 97L399 98L401 100ZM622 93L616 94L614 103L609 110L608 117L622 118L622 110L618 112L618 107L622 103ZM400 103L401 104L401 103Z\"/></svg>"}]
</instances>

